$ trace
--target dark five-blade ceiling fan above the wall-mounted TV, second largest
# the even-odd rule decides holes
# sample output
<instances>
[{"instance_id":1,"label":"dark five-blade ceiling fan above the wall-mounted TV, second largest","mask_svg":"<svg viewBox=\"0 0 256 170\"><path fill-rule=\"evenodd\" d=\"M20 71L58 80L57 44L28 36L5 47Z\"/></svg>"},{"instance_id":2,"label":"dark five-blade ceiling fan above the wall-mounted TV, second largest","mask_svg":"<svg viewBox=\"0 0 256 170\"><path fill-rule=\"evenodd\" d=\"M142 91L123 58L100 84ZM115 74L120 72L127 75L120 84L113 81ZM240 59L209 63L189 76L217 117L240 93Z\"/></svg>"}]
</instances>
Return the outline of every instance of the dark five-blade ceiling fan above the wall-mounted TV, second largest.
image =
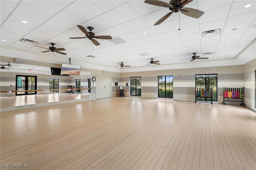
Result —
<instances>
[{"instance_id":1,"label":"dark five-blade ceiling fan above the wall-mounted TV, second largest","mask_svg":"<svg viewBox=\"0 0 256 170\"><path fill-rule=\"evenodd\" d=\"M93 27L87 27L88 30L90 30L90 32L88 32L83 26L79 26L79 25L77 25L77 26L86 35L86 37L72 37L71 39L89 38L89 40L91 40L92 43L94 43L94 45L100 45L100 43L97 40L94 40L94 38L96 38L96 39L105 39L105 40L112 39L111 36L95 36L94 32L92 32L92 30L94 29Z\"/></svg>"}]
</instances>

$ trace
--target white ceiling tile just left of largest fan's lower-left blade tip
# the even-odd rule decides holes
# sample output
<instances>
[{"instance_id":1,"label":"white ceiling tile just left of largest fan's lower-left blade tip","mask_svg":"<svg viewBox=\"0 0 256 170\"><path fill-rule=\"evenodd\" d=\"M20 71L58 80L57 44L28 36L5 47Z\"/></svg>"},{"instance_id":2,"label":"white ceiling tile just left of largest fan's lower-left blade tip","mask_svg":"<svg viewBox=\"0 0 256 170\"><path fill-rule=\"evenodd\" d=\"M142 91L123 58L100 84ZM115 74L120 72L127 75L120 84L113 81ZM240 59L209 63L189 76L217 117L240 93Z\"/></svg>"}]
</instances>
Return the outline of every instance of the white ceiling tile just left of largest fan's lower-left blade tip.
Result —
<instances>
[{"instance_id":1,"label":"white ceiling tile just left of largest fan's lower-left blade tip","mask_svg":"<svg viewBox=\"0 0 256 170\"><path fill-rule=\"evenodd\" d=\"M132 32L148 28L148 25L141 18L136 18L134 20L125 22L122 25Z\"/></svg>"}]
</instances>

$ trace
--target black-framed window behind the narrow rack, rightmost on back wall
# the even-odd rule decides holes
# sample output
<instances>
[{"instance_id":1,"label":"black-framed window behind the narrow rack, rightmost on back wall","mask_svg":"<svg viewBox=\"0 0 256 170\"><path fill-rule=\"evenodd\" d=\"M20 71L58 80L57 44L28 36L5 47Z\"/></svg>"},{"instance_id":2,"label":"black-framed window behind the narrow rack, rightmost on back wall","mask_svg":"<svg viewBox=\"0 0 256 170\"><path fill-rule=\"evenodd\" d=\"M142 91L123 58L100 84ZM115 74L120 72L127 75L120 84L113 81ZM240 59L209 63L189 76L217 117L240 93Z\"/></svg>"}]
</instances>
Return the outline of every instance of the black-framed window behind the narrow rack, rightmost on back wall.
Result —
<instances>
[{"instance_id":1,"label":"black-framed window behind the narrow rack, rightmost on back wall","mask_svg":"<svg viewBox=\"0 0 256 170\"><path fill-rule=\"evenodd\" d=\"M212 101L217 101L217 78L218 74L199 74L196 75L196 89L207 89L212 88ZM201 100L200 97L198 100ZM204 99L202 99L204 100ZM206 98L206 101L211 101L210 98Z\"/></svg>"}]
</instances>

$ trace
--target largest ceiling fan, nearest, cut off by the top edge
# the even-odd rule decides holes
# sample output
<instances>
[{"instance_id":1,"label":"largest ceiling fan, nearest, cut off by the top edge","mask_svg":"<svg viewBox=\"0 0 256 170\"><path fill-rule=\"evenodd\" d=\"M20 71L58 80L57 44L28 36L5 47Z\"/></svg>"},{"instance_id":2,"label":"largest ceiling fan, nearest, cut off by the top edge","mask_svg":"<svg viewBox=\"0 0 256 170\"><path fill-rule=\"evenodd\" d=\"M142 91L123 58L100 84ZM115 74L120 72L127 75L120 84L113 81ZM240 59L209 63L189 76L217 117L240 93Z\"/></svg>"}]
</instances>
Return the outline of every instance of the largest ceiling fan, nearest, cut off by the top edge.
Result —
<instances>
[{"instance_id":1,"label":"largest ceiling fan, nearest, cut off by the top edge","mask_svg":"<svg viewBox=\"0 0 256 170\"><path fill-rule=\"evenodd\" d=\"M164 20L171 16L173 12L181 12L182 14L193 18L199 18L200 16L202 16L204 12L200 10L196 10L194 8L183 8L186 4L188 4L191 1L193 0L171 0L169 4L159 0L145 0L144 2L151 5L169 8L169 10L172 11L163 16L160 20L158 20L158 22L154 24L154 26L156 26L164 22Z\"/></svg>"}]
</instances>

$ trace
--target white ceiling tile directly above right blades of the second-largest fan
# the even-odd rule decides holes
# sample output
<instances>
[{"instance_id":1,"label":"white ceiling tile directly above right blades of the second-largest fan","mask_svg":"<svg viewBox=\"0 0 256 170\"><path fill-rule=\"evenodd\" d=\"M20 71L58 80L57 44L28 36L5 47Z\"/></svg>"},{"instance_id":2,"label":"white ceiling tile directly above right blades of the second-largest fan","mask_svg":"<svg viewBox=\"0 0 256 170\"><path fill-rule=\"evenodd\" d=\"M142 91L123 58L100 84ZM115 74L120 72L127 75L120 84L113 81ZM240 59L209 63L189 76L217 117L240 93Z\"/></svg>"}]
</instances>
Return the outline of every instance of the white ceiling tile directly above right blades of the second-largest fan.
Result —
<instances>
[{"instance_id":1,"label":"white ceiling tile directly above right blades of the second-largest fan","mask_svg":"<svg viewBox=\"0 0 256 170\"><path fill-rule=\"evenodd\" d=\"M100 16L97 16L97 17L93 18L90 21L97 24L98 26L100 26L104 29L108 29L110 27L113 27L113 26L116 26L116 25L120 24L119 22L114 20L114 18L110 17L106 13L101 14ZM107 21L107 22L102 22L102 21Z\"/></svg>"}]
</instances>

